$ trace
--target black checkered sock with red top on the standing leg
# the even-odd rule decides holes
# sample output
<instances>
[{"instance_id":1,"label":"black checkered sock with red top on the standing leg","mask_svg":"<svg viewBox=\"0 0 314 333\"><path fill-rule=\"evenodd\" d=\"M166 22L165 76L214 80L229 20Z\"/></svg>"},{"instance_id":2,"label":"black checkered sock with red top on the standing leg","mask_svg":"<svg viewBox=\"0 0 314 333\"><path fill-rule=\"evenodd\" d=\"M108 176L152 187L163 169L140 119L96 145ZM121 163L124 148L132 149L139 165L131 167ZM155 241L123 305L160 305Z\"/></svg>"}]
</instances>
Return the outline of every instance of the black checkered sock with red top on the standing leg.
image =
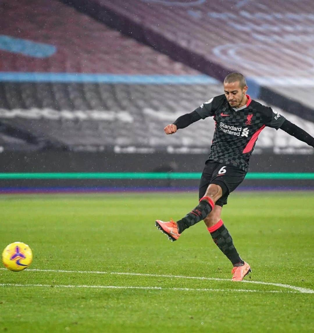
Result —
<instances>
[{"instance_id":1,"label":"black checkered sock with red top on the standing leg","mask_svg":"<svg viewBox=\"0 0 314 333\"><path fill-rule=\"evenodd\" d=\"M224 226L222 219L215 225L207 228L215 244L220 248L223 254L232 262L233 266L242 266L244 261L240 258L239 253L234 247L232 237L228 229Z\"/></svg>"}]
</instances>

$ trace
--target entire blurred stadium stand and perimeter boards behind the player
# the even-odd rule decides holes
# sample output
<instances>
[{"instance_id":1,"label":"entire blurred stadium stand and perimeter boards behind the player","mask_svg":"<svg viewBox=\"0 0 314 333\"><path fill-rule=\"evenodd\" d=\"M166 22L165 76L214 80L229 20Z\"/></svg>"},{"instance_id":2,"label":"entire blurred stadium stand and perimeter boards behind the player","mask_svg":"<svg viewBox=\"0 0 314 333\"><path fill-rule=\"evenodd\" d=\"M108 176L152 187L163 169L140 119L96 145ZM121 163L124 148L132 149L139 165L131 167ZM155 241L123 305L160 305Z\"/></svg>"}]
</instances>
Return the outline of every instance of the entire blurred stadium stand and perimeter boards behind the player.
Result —
<instances>
[{"instance_id":1,"label":"entire blurred stadium stand and perimeter boards behind the player","mask_svg":"<svg viewBox=\"0 0 314 333\"><path fill-rule=\"evenodd\" d=\"M197 175L167 175L201 172L214 122L173 136L163 127L222 94L232 71L314 136L310 0L3 0L0 10L2 192L197 188ZM249 169L264 174L240 188L313 189L313 165L311 147L265 129Z\"/></svg>"}]
</instances>

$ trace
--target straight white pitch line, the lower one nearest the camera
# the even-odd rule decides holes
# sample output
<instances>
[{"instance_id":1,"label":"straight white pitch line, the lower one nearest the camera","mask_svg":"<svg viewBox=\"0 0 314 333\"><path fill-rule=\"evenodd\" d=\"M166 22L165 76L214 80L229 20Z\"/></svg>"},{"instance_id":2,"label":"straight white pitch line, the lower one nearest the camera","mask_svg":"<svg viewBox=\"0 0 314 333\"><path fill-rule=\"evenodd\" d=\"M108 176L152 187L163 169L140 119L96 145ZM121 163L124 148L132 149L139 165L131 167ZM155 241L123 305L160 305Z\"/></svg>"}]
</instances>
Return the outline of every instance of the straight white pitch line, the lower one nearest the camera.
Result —
<instances>
[{"instance_id":1,"label":"straight white pitch line, the lower one nearest the camera","mask_svg":"<svg viewBox=\"0 0 314 333\"><path fill-rule=\"evenodd\" d=\"M258 292L258 293L284 293L280 290L254 290L254 289L194 289L194 288L163 288L163 287L140 287L140 286L93 286L93 285L51 285L51 284L15 284L1 283L0 287L50 287L50 288L95 288L95 289L145 289L145 290L174 290L174 291L219 291L219 292ZM297 294L297 291L286 291Z\"/></svg>"}]
</instances>

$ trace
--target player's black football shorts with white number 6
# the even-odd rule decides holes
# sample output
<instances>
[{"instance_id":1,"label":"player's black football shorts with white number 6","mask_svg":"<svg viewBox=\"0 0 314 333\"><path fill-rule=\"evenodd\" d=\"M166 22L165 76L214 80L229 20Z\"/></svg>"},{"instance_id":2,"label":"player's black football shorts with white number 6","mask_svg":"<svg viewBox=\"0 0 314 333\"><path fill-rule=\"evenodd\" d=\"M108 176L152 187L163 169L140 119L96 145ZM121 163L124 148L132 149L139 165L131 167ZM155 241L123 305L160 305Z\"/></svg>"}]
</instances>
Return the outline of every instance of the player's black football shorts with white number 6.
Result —
<instances>
[{"instance_id":1,"label":"player's black football shorts with white number 6","mask_svg":"<svg viewBox=\"0 0 314 333\"><path fill-rule=\"evenodd\" d=\"M222 188L222 197L216 201L216 205L227 204L228 195L234 191L243 181L246 171L235 166L207 160L200 180L199 199L205 195L209 184L216 184Z\"/></svg>"}]
</instances>

